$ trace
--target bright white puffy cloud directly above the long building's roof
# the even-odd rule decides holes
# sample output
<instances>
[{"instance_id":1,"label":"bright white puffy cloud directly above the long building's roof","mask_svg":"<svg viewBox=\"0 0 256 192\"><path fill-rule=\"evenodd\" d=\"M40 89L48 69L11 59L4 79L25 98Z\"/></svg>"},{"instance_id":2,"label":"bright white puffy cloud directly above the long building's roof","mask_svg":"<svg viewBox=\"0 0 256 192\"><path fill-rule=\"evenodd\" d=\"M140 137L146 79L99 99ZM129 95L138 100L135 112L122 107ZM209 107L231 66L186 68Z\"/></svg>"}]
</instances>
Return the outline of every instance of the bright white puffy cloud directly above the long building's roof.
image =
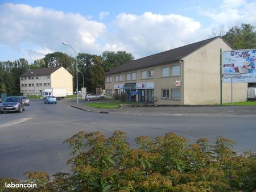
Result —
<instances>
[{"instance_id":1,"label":"bright white puffy cloud directly above the long building's roof","mask_svg":"<svg viewBox=\"0 0 256 192\"><path fill-rule=\"evenodd\" d=\"M112 23L114 32L108 38L117 47L141 57L207 38L200 26L199 22L181 15L122 13Z\"/></svg>"}]
</instances>

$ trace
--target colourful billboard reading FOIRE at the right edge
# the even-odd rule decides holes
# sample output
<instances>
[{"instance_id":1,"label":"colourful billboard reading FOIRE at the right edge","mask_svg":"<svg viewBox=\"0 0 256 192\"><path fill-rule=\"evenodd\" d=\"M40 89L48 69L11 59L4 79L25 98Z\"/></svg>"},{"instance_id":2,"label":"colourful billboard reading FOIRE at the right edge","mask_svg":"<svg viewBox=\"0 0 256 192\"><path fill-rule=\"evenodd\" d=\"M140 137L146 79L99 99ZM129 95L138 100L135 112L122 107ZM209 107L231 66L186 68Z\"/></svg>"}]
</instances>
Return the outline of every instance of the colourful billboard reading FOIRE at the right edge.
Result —
<instances>
[{"instance_id":1,"label":"colourful billboard reading FOIRE at the right edge","mask_svg":"<svg viewBox=\"0 0 256 192\"><path fill-rule=\"evenodd\" d=\"M256 82L256 49L224 51L222 53L222 74L241 73L240 78L233 78L233 82ZM223 82L230 82L231 78L222 78Z\"/></svg>"}]
</instances>

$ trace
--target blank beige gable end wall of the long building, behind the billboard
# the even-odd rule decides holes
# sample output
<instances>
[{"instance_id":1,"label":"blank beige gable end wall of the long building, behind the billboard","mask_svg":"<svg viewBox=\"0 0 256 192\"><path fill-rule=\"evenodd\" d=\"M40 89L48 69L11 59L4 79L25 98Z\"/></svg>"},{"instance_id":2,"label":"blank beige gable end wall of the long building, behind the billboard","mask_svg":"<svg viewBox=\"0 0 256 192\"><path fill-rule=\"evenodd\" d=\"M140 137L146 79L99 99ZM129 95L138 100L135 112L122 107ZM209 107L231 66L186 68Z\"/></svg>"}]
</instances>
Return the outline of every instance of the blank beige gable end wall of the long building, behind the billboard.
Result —
<instances>
[{"instance_id":1,"label":"blank beige gable end wall of the long building, behind the billboard","mask_svg":"<svg viewBox=\"0 0 256 192\"><path fill-rule=\"evenodd\" d=\"M218 38L184 58L184 105L220 103L220 48L232 50ZM233 101L246 101L246 83L233 84ZM222 83L222 102L230 102L230 83Z\"/></svg>"}]
</instances>

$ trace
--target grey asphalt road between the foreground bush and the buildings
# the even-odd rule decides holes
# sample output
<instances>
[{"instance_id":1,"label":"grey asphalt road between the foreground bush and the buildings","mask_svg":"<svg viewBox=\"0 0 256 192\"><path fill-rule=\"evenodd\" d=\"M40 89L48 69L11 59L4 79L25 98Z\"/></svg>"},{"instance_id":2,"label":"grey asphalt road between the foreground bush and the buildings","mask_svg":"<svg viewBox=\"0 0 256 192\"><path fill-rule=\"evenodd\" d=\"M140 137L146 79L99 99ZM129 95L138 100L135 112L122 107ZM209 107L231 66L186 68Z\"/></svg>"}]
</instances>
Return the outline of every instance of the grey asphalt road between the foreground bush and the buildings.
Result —
<instances>
[{"instance_id":1,"label":"grey asphalt road between the foreground bush and the buildings","mask_svg":"<svg viewBox=\"0 0 256 192\"><path fill-rule=\"evenodd\" d=\"M71 157L63 141L75 133L101 131L111 136L114 130L127 132L135 147L138 136L163 136L175 132L195 142L207 137L214 144L217 136L234 140L234 150L256 152L254 115L210 114L99 114L70 107L67 101L45 105L31 101L22 113L0 114L0 177L24 179L26 171L68 172Z\"/></svg>"}]
</instances>

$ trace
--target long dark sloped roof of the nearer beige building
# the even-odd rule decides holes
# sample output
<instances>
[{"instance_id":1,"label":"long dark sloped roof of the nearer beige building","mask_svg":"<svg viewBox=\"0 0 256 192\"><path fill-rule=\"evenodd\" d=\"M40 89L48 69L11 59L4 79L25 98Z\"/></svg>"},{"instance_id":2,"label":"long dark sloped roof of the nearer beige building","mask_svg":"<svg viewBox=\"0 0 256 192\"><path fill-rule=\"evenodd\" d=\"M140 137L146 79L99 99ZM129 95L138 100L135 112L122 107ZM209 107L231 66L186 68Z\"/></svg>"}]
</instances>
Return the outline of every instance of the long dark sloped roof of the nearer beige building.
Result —
<instances>
[{"instance_id":1,"label":"long dark sloped roof of the nearer beige building","mask_svg":"<svg viewBox=\"0 0 256 192\"><path fill-rule=\"evenodd\" d=\"M115 73L127 72L133 69L146 68L148 66L161 65L179 61L185 56L188 56L192 52L196 51L197 49L203 47L204 45L210 43L211 41L219 37L220 36L213 37L189 45L184 45L183 47L178 47L161 53L156 53L151 56L142 57L141 59L126 62L125 64L120 65L117 68L114 68L113 70L110 70L110 72L105 73L105 76Z\"/></svg>"}]
</instances>

